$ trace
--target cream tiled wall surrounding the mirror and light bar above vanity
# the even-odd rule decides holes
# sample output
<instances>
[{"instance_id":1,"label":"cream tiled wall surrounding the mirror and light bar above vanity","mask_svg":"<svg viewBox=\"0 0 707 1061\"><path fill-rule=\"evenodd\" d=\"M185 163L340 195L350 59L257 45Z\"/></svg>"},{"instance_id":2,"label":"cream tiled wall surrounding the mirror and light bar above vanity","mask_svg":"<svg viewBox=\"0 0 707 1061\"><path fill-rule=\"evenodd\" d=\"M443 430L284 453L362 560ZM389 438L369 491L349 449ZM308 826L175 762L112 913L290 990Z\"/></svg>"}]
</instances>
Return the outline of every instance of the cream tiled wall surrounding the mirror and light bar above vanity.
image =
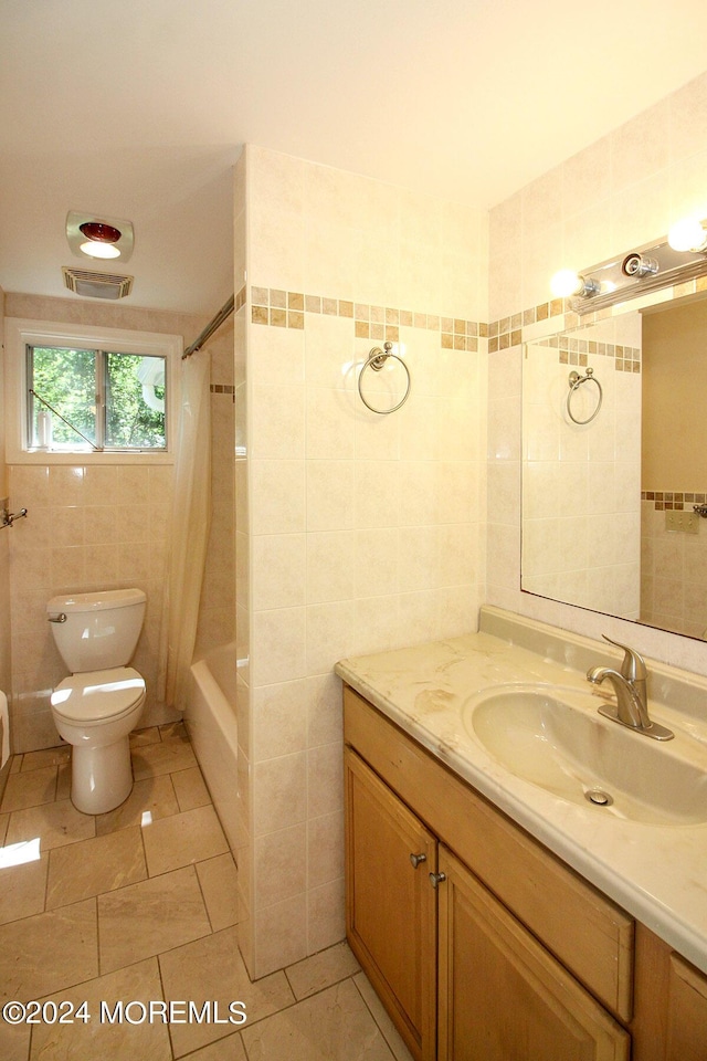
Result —
<instances>
[{"instance_id":1,"label":"cream tiled wall surrounding the mirror and light bar above vanity","mask_svg":"<svg viewBox=\"0 0 707 1061\"><path fill-rule=\"evenodd\" d=\"M626 640L655 659L707 674L707 645L519 591L523 338L538 304L546 334L564 327L549 277L707 217L707 74L544 174L490 212L489 319L516 321L489 354L487 600L569 630ZM492 329L489 329L492 330ZM525 332L525 334L524 334ZM492 330L493 334L493 330Z\"/></svg>"}]
</instances>

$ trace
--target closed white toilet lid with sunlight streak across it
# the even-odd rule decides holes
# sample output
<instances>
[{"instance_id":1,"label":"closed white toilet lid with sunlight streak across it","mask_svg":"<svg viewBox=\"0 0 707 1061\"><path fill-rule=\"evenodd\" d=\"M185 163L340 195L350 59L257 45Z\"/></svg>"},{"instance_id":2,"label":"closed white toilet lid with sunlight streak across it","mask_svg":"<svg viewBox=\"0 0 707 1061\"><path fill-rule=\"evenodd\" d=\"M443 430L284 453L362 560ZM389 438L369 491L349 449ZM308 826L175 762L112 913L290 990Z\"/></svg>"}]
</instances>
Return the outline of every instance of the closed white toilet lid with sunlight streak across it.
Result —
<instances>
[{"instance_id":1,"label":"closed white toilet lid with sunlight streak across it","mask_svg":"<svg viewBox=\"0 0 707 1061\"><path fill-rule=\"evenodd\" d=\"M131 666L72 674L52 693L52 708L72 722L118 718L145 698L145 679Z\"/></svg>"}]
</instances>

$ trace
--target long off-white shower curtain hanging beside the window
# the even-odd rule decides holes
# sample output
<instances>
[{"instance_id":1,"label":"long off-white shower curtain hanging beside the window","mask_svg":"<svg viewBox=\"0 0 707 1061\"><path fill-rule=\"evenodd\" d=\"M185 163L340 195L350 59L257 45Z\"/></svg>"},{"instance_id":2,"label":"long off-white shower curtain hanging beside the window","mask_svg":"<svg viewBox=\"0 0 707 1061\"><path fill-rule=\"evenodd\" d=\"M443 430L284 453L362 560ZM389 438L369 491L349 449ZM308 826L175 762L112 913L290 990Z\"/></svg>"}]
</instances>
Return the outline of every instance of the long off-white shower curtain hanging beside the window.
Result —
<instances>
[{"instance_id":1,"label":"long off-white shower curtain hanging beside the window","mask_svg":"<svg viewBox=\"0 0 707 1061\"><path fill-rule=\"evenodd\" d=\"M171 551L162 617L165 703L184 711L211 521L209 355L184 358L175 468Z\"/></svg>"}]
</instances>

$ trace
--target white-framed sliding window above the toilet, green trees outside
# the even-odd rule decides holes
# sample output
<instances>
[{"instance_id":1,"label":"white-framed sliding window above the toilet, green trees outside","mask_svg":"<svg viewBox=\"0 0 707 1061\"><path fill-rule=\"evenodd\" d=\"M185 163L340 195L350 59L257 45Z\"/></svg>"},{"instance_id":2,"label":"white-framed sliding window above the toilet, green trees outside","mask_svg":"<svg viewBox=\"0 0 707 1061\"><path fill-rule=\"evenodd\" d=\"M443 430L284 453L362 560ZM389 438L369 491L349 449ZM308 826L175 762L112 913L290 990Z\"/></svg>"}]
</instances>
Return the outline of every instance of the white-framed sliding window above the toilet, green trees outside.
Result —
<instances>
[{"instance_id":1,"label":"white-framed sliding window above the toilet, green trees outside","mask_svg":"<svg viewBox=\"0 0 707 1061\"><path fill-rule=\"evenodd\" d=\"M6 319L10 463L171 462L180 336Z\"/></svg>"}]
</instances>

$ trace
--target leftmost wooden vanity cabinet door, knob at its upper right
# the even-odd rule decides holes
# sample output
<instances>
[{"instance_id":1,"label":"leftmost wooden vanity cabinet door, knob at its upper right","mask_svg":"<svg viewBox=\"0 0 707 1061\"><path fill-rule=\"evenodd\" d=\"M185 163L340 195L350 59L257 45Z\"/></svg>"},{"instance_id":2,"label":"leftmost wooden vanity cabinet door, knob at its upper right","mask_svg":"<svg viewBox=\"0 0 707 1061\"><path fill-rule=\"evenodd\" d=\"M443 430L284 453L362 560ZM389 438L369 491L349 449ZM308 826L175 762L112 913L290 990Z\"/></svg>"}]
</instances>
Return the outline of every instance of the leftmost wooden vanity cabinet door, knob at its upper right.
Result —
<instances>
[{"instance_id":1,"label":"leftmost wooden vanity cabinet door, knob at its upper right","mask_svg":"<svg viewBox=\"0 0 707 1061\"><path fill-rule=\"evenodd\" d=\"M434 1061L436 839L350 748L345 769L347 937L413 1055Z\"/></svg>"}]
</instances>

